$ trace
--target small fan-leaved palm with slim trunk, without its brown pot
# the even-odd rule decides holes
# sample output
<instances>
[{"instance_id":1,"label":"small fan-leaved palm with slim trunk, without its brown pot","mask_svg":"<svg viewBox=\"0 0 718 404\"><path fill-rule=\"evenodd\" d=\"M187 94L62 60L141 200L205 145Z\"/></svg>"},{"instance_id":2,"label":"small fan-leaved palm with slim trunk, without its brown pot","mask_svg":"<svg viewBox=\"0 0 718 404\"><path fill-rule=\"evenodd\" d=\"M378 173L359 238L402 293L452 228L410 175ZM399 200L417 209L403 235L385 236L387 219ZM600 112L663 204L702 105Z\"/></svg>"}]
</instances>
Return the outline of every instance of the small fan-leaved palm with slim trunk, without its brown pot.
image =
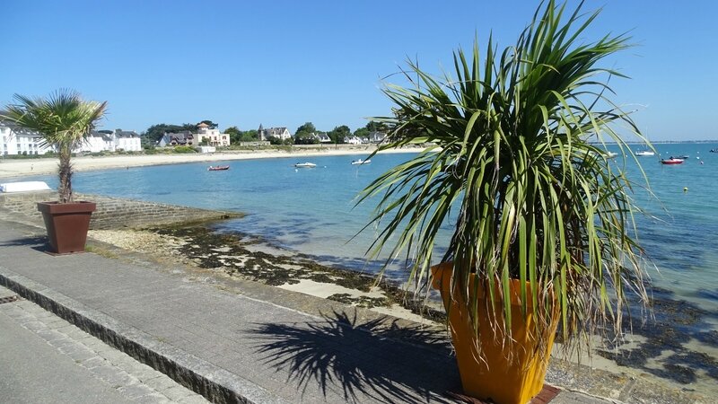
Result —
<instances>
[{"instance_id":1,"label":"small fan-leaved palm with slim trunk, without its brown pot","mask_svg":"<svg viewBox=\"0 0 718 404\"><path fill-rule=\"evenodd\" d=\"M14 99L16 103L6 106L0 118L38 132L43 145L56 149L60 160L59 202L73 202L72 152L104 116L107 101L83 101L79 93L67 89L53 92L48 98L15 94Z\"/></svg>"}]
</instances>

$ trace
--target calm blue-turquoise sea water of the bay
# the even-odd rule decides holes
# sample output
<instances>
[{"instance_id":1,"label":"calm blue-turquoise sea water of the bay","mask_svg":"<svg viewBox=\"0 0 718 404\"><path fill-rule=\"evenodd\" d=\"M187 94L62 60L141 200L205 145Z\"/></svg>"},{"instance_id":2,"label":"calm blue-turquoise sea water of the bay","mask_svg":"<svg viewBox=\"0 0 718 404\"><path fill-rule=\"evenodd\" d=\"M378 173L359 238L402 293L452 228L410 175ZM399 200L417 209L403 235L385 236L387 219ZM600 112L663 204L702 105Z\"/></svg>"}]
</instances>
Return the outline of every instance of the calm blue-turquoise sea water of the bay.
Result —
<instances>
[{"instance_id":1,"label":"calm blue-turquoise sea water of the bay","mask_svg":"<svg viewBox=\"0 0 718 404\"><path fill-rule=\"evenodd\" d=\"M654 218L639 216L640 242L658 271L653 285L671 297L718 312L718 154L715 144L656 145L661 156L687 154L676 166L662 165L658 156L640 157L652 191L635 189L639 205ZM412 154L381 154L367 165L351 165L355 156L301 158L317 164L295 169L296 158L223 162L229 171L206 171L207 163L165 165L127 170L78 172L79 192L136 198L184 206L233 210L248 214L225 222L218 231L261 235L328 264L375 271L363 259L373 231L352 240L367 223L373 204L354 207L354 198L371 180ZM617 162L620 162L617 159ZM626 170L638 179L635 163ZM31 179L23 179L31 180ZM37 177L57 187L52 176ZM687 188L687 191L684 191ZM450 229L447 229L447 234ZM390 277L401 278L396 271ZM718 328L714 319L714 329Z\"/></svg>"}]
</instances>

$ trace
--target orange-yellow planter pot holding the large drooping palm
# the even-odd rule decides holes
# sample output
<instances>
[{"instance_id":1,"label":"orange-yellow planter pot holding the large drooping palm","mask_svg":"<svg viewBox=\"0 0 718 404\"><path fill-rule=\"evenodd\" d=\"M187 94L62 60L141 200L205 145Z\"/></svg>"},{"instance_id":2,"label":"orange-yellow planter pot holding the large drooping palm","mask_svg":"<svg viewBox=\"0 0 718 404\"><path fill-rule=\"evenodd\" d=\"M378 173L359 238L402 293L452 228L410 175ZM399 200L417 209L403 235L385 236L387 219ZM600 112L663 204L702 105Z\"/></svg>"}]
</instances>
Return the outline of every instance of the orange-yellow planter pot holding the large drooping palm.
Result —
<instances>
[{"instance_id":1,"label":"orange-yellow planter pot holding the large drooping palm","mask_svg":"<svg viewBox=\"0 0 718 404\"><path fill-rule=\"evenodd\" d=\"M433 287L442 292L444 307L449 312L451 338L456 350L464 393L477 399L493 400L497 404L528 402L543 389L548 357L551 354L558 326L558 312L554 313L550 326L540 330L548 334L544 334L547 336L546 347L539 347L536 335L527 332L533 329L534 319L529 314L524 320L521 314L520 281L512 280L511 327L515 342L504 344L503 334L493 333L489 321L492 318L501 319L502 314L499 311L491 311L487 296L483 288L479 287L477 316L481 334L477 339L471 327L467 305L457 300L458 294L451 301L449 288L452 271L452 263L433 267ZM527 292L529 292L528 287ZM498 308L502 305L503 302L496 304ZM503 321L499 320L499 322ZM477 347L481 347L482 356L479 356ZM509 357L512 360L509 360Z\"/></svg>"}]
</instances>

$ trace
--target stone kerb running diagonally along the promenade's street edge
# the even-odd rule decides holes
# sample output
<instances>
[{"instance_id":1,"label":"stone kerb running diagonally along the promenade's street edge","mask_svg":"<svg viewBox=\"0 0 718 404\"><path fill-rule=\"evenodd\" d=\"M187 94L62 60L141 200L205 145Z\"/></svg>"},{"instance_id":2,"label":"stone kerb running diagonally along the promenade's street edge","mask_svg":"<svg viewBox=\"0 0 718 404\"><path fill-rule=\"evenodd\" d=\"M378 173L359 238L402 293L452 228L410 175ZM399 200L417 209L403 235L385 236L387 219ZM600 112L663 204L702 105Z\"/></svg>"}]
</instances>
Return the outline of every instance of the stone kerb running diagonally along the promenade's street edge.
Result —
<instances>
[{"instance_id":1,"label":"stone kerb running diagonally along the promenade's street edge","mask_svg":"<svg viewBox=\"0 0 718 404\"><path fill-rule=\"evenodd\" d=\"M0 285L215 403L285 403L257 384L0 266Z\"/></svg>"}]
</instances>

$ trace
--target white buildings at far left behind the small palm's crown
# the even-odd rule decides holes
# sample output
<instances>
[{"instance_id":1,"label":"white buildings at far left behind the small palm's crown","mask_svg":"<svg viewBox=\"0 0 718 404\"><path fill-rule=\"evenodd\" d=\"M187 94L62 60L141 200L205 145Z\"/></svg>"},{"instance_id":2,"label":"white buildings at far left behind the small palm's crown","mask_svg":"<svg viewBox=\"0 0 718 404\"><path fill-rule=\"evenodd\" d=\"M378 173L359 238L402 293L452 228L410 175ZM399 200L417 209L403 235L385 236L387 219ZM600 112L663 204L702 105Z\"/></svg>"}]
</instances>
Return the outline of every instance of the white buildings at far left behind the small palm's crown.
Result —
<instances>
[{"instance_id":1,"label":"white buildings at far left behind the small palm's crown","mask_svg":"<svg viewBox=\"0 0 718 404\"><path fill-rule=\"evenodd\" d=\"M51 146L45 145L36 132L13 124L0 123L0 154L46 154L56 152ZM74 153L100 152L139 152L142 150L140 136L135 131L115 129L114 132L92 131L84 141L74 149Z\"/></svg>"}]
</instances>

